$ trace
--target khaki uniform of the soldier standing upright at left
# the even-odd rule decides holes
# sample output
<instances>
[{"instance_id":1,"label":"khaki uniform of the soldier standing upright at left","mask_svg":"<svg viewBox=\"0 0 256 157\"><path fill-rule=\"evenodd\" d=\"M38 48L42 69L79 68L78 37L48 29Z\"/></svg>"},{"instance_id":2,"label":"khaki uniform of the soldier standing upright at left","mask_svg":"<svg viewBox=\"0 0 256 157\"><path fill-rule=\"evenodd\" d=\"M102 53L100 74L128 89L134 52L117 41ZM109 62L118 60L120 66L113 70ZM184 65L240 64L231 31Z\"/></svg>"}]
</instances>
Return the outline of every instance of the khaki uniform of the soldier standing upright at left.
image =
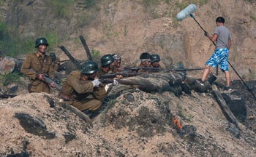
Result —
<instances>
[{"instance_id":1,"label":"khaki uniform of the soldier standing upright at left","mask_svg":"<svg viewBox=\"0 0 256 157\"><path fill-rule=\"evenodd\" d=\"M29 77L31 92L50 93L50 86L44 81L37 79L39 73L48 74L51 78L54 78L52 60L48 55L45 55L44 58L37 53L27 55L20 71Z\"/></svg>"}]
</instances>

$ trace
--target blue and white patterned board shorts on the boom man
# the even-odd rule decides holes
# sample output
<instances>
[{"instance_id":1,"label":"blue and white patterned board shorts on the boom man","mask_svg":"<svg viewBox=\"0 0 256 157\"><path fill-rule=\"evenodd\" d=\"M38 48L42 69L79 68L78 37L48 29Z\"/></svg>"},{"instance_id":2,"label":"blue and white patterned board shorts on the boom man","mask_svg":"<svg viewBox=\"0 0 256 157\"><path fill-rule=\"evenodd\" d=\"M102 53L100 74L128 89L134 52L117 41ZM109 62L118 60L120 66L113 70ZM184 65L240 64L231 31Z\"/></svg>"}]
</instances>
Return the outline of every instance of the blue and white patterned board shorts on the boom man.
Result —
<instances>
[{"instance_id":1,"label":"blue and white patterned board shorts on the boom man","mask_svg":"<svg viewBox=\"0 0 256 157\"><path fill-rule=\"evenodd\" d=\"M228 71L228 49L215 49L213 55L211 55L210 59L206 62L206 65L209 65L213 68L219 65L219 68L222 71Z\"/></svg>"}]
</instances>

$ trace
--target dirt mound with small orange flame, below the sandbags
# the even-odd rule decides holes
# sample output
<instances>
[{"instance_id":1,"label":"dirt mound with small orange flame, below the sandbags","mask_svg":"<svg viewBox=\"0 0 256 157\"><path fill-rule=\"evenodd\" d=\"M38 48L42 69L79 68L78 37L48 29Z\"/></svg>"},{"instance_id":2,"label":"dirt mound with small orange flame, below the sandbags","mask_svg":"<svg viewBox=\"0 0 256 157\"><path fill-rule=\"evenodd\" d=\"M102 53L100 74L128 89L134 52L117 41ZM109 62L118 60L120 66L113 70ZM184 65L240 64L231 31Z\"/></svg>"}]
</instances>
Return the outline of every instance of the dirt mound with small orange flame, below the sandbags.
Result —
<instances>
[{"instance_id":1,"label":"dirt mound with small orange flame, below the sandbags","mask_svg":"<svg viewBox=\"0 0 256 157\"><path fill-rule=\"evenodd\" d=\"M121 94L94 119L94 129L116 141L133 156L255 156L253 133L240 139L227 131L230 125L212 94L170 92L149 94L140 90ZM173 118L183 129L173 125Z\"/></svg>"}]
</instances>

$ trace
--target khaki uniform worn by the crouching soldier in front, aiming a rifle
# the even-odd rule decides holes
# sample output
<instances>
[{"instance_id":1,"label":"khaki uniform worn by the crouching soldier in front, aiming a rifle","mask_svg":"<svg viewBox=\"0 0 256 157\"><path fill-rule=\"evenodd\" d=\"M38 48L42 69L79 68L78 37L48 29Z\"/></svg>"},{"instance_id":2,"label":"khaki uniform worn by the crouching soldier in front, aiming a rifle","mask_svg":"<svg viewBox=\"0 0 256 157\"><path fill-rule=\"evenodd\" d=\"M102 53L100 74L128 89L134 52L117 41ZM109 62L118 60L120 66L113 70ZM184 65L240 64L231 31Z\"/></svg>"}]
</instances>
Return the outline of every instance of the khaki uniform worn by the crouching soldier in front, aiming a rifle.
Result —
<instances>
[{"instance_id":1,"label":"khaki uniform worn by the crouching soldier in front, aiming a rifle","mask_svg":"<svg viewBox=\"0 0 256 157\"><path fill-rule=\"evenodd\" d=\"M66 101L69 105L73 105L78 110L98 110L102 105L102 98L107 92L104 86L95 87L91 81L82 81L80 71L72 71L67 76L61 88L61 95L69 97Z\"/></svg>"}]
</instances>

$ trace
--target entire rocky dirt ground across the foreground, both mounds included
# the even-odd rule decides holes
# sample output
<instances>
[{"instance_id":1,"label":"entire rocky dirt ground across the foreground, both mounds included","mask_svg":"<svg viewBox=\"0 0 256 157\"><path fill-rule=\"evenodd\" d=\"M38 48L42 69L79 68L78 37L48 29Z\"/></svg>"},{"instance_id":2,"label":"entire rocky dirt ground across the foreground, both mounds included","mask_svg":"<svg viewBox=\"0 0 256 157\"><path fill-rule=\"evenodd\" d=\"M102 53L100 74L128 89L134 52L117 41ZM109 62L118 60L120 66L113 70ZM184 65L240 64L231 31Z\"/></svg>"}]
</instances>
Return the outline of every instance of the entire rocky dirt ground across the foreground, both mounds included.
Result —
<instances>
[{"instance_id":1,"label":"entire rocky dirt ground across the foreground, both mounds included","mask_svg":"<svg viewBox=\"0 0 256 157\"><path fill-rule=\"evenodd\" d=\"M217 79L214 85L220 92L221 83ZM240 130L227 120L211 90L177 96L129 88L103 100L101 113L92 119L93 127L83 113L59 102L57 93L0 100L0 155L255 156L255 101L239 81L232 84L239 89L233 92L246 100ZM222 95L231 97L233 92Z\"/></svg>"}]
</instances>

